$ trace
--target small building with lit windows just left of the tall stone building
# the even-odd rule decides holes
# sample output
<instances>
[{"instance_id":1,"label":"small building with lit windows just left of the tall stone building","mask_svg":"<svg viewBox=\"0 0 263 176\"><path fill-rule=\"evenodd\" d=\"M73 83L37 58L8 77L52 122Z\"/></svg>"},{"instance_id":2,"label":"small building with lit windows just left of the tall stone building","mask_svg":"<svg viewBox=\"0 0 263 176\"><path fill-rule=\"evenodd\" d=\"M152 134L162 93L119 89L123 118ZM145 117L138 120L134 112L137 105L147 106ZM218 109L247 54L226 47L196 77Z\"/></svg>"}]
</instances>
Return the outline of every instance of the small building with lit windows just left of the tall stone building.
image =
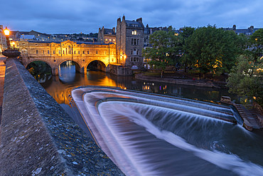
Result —
<instances>
[{"instance_id":1,"label":"small building with lit windows just left of the tall stone building","mask_svg":"<svg viewBox=\"0 0 263 176\"><path fill-rule=\"evenodd\" d=\"M116 33L115 28L112 29L99 29L99 33L97 35L98 43L115 43L116 44Z\"/></svg>"}]
</instances>

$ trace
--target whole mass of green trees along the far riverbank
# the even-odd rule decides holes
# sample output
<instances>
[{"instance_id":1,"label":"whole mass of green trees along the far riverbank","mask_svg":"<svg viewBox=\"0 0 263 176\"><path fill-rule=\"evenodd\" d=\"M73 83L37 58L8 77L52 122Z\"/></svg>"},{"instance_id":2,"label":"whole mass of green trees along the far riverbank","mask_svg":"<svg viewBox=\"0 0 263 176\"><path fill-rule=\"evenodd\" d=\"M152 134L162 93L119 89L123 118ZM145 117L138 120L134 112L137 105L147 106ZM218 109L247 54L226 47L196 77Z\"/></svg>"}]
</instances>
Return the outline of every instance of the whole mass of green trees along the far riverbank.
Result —
<instances>
[{"instance_id":1,"label":"whole mass of green trees along the far riverbank","mask_svg":"<svg viewBox=\"0 0 263 176\"><path fill-rule=\"evenodd\" d=\"M230 92L263 105L263 29L248 37L210 25L184 27L179 34L169 27L151 34L149 41L144 58L161 77L166 69L183 69L200 78L225 75Z\"/></svg>"}]
</instances>

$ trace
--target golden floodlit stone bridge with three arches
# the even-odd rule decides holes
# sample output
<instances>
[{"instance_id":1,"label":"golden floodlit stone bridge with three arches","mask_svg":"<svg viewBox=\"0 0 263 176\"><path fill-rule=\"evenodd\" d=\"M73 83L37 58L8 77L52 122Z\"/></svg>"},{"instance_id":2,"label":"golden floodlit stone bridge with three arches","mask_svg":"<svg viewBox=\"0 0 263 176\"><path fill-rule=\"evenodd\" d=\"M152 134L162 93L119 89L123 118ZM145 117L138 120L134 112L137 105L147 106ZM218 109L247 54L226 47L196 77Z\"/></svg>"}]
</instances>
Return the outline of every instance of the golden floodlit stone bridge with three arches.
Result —
<instances>
[{"instance_id":1,"label":"golden floodlit stone bridge with three arches","mask_svg":"<svg viewBox=\"0 0 263 176\"><path fill-rule=\"evenodd\" d=\"M109 65L119 66L114 43L17 41L16 45L25 67L33 61L43 61L48 63L53 75L58 75L60 64L65 61L73 61L79 73L87 73L92 61L97 61L97 68L107 72Z\"/></svg>"}]
</instances>

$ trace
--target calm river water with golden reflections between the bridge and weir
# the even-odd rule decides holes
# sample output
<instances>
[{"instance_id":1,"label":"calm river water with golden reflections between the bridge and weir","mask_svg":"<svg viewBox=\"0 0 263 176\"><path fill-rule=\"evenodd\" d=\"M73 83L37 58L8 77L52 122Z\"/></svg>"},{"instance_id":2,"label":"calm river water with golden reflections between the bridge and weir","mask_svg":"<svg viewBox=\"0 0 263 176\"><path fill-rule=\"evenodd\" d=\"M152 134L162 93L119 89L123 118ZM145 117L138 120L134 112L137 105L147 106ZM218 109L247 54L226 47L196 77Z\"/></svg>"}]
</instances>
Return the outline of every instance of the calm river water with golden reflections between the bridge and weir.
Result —
<instances>
[{"instance_id":1,"label":"calm river water with golden reflections between the bridge and weir","mask_svg":"<svg viewBox=\"0 0 263 176\"><path fill-rule=\"evenodd\" d=\"M149 93L159 93L218 102L222 95L228 95L233 100L237 96L227 92L226 89L203 88L198 86L176 85L169 83L155 83L151 81L140 81L132 76L114 76L101 71L87 71L86 75L75 73L75 66L61 66L59 76L53 76L41 84L47 92L62 104L68 104L70 90L76 86L114 86L123 89L139 90Z\"/></svg>"}]
</instances>

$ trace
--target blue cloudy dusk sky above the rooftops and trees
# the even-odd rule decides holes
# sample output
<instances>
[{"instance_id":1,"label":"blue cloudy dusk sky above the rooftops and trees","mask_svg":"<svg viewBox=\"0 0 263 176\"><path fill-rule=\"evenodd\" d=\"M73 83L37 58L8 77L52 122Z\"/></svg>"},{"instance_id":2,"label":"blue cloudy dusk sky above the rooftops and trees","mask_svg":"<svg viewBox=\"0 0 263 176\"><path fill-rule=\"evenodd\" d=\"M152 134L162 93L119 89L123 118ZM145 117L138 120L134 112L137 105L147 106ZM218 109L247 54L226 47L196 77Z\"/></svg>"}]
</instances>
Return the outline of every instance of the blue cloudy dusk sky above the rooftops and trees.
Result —
<instances>
[{"instance_id":1,"label":"blue cloudy dusk sky above the rooftops and trees","mask_svg":"<svg viewBox=\"0 0 263 176\"><path fill-rule=\"evenodd\" d=\"M263 27L263 0L0 0L0 24L43 33L96 33L117 18L142 18L144 25ZM9 7L9 8L8 8Z\"/></svg>"}]
</instances>

